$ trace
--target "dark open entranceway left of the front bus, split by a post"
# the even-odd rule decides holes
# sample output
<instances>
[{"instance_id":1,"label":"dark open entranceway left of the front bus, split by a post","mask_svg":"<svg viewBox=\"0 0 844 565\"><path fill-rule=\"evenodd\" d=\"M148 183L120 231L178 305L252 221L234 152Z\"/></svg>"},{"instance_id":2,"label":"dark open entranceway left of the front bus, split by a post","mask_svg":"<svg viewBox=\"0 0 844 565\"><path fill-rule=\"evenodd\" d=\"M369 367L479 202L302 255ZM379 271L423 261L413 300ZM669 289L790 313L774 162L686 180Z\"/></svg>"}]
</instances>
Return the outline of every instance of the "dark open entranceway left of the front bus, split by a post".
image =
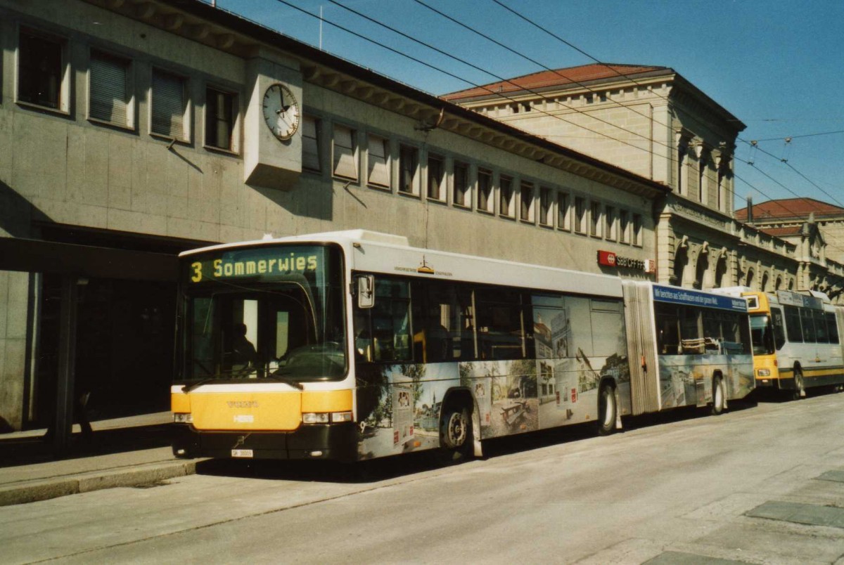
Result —
<instances>
[{"instance_id":1,"label":"dark open entranceway left of the front bus, split by a post","mask_svg":"<svg viewBox=\"0 0 844 565\"><path fill-rule=\"evenodd\" d=\"M61 275L43 276L35 381L35 421L55 408ZM90 393L94 420L163 412L170 407L176 285L107 278L78 285L74 396Z\"/></svg>"}]
</instances>

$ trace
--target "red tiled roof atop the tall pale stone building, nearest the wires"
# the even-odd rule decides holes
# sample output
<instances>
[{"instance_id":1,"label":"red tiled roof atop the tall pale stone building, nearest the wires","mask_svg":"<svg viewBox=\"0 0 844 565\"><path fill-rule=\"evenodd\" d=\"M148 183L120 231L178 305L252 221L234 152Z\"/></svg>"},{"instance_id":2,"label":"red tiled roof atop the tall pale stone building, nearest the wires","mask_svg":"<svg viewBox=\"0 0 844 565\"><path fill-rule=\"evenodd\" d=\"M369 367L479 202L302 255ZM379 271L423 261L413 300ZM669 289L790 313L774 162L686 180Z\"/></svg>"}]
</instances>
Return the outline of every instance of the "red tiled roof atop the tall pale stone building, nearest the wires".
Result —
<instances>
[{"instance_id":1,"label":"red tiled roof atop the tall pale stone building, nearest the wires","mask_svg":"<svg viewBox=\"0 0 844 565\"><path fill-rule=\"evenodd\" d=\"M526 74L522 77L511 78L498 83L485 84L482 87L458 90L443 94L443 100L463 100L477 96L488 96L522 90L546 89L567 84L591 83L592 81L608 78L636 78L636 75L668 71L668 67L650 67L645 65L619 65L611 63L593 63L581 67L560 68L555 71L540 71Z\"/></svg>"}]
</instances>

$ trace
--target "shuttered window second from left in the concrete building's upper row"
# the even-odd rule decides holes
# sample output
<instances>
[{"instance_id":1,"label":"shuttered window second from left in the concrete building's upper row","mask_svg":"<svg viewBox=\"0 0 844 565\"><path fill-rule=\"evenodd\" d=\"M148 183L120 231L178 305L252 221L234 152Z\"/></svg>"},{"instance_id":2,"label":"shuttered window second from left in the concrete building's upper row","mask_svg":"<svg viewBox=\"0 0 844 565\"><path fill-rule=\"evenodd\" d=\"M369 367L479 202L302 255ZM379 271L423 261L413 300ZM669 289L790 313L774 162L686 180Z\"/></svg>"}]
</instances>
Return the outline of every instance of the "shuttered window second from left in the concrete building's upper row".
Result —
<instances>
[{"instance_id":1,"label":"shuttered window second from left in the concrete building's upper row","mask_svg":"<svg viewBox=\"0 0 844 565\"><path fill-rule=\"evenodd\" d=\"M88 117L115 126L133 126L129 94L129 62L91 51L88 75Z\"/></svg>"}]
</instances>

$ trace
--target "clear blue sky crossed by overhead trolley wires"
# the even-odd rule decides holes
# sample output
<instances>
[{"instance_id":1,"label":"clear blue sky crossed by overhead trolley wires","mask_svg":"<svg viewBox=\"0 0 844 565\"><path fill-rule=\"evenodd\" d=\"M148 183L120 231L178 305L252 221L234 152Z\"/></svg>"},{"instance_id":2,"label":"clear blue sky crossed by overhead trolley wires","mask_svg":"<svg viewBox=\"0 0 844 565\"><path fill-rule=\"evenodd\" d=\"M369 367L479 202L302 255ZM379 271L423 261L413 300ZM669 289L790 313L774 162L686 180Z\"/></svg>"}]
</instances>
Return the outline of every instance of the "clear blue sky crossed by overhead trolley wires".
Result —
<instances>
[{"instance_id":1,"label":"clear blue sky crossed by overhead trolley wires","mask_svg":"<svg viewBox=\"0 0 844 565\"><path fill-rule=\"evenodd\" d=\"M573 67L595 59L672 67L747 126L736 149L737 208L744 207L747 196L753 196L755 203L809 196L844 207L844 2L840 0L499 0L565 43L494 0L337 1L504 78L542 67L419 2L544 67ZM326 21L469 82L327 23L322 24L321 35L318 19L285 3L315 14L322 8ZM217 0L217 6L314 46L322 40L325 51L430 94L496 80L329 0ZM788 143L787 137L791 137ZM749 144L754 140L756 148Z\"/></svg>"}]
</instances>

